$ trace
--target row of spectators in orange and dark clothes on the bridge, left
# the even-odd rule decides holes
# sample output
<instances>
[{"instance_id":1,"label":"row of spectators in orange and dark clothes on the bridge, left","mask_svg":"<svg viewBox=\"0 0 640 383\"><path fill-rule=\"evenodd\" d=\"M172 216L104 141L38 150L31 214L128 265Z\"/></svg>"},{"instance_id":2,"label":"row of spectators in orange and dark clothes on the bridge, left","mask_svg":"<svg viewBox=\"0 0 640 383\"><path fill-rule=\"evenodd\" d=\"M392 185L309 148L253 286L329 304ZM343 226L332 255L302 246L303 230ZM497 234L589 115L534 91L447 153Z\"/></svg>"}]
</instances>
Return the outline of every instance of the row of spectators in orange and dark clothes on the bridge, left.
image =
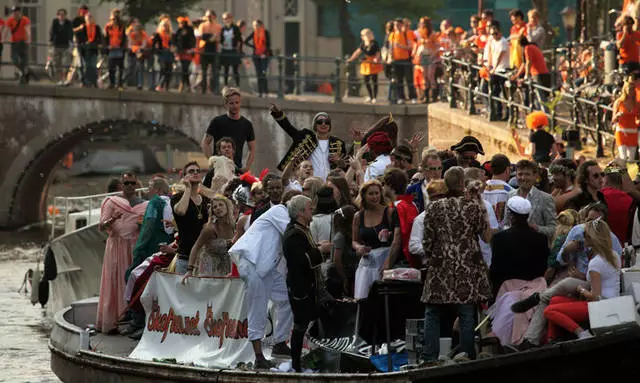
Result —
<instances>
[{"instance_id":1,"label":"row of spectators in orange and dark clothes on the bridge, left","mask_svg":"<svg viewBox=\"0 0 640 383\"><path fill-rule=\"evenodd\" d=\"M20 82L28 83L34 77L27 49L32 43L31 21L19 6L10 12L6 23L0 20L0 35L8 35ZM171 79L176 72L180 74L180 92L219 94L220 75L227 85L232 72L236 86L240 85L239 68L247 46L253 50L258 95L269 93L266 74L271 40L261 20L253 21L250 33L247 23L234 20L229 12L222 14L222 23L213 10L207 10L200 19L192 21L182 16L175 21L174 31L169 16L161 15L155 31L147 33L136 18L125 19L119 9L111 11L103 26L86 5L78 8L73 20L68 19L65 9L59 9L49 31L53 78L59 85L69 86L79 79L82 87L98 87L102 85L98 75L102 65L98 63L104 62L109 74L104 85L108 88L128 85L167 91L173 86Z\"/></svg>"}]
</instances>

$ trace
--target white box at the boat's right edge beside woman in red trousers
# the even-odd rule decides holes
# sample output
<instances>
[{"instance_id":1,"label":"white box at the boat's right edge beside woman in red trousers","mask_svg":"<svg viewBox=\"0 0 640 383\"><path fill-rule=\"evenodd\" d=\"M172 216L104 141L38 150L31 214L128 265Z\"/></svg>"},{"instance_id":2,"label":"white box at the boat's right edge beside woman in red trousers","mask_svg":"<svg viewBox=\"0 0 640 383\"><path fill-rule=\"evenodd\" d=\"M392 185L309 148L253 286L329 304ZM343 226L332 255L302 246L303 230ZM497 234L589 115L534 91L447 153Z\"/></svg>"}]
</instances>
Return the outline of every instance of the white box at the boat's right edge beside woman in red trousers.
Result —
<instances>
[{"instance_id":1,"label":"white box at the boat's right edge beside woman in red trousers","mask_svg":"<svg viewBox=\"0 0 640 383\"><path fill-rule=\"evenodd\" d=\"M589 323L593 333L602 334L615 327L639 324L640 318L633 297L625 295L589 302Z\"/></svg>"}]
</instances>

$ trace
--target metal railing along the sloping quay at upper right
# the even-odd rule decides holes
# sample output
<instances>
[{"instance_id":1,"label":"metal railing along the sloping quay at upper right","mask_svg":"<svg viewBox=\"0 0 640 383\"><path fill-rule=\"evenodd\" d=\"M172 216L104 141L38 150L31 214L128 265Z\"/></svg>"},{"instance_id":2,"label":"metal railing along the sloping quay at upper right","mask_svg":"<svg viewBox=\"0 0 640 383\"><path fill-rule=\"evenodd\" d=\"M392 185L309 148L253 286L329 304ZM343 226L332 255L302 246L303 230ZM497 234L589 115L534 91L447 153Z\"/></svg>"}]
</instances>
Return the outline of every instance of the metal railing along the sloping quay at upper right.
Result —
<instances>
[{"instance_id":1,"label":"metal railing along the sloping quay at upper right","mask_svg":"<svg viewBox=\"0 0 640 383\"><path fill-rule=\"evenodd\" d=\"M453 57L443 57L446 66L447 81L446 95L451 108L464 107L469 114L480 114L478 111L478 99L482 100L485 107L485 116L490 121L496 121L499 116L496 114L496 103L502 104L508 113L508 122L512 127L526 126L524 119L534 107L539 104L540 110L549 118L549 128L561 130L563 136L568 137L570 147L579 147L580 139L584 134L593 138L597 147L597 156L604 156L604 139L614 138L611 127L611 116L613 100L601 101L587 99L576 91L575 87L570 89L559 89L554 86L545 87L529 79L522 85L515 85L511 82L511 76L507 73L493 73L488 80L479 79L480 66L459 60ZM459 72L462 72L462 75ZM486 82L484 88L488 92L483 92L482 81ZM503 90L504 97L494 94L494 82L505 83L506 90ZM525 99L529 102L521 101L522 97L516 95L526 92ZM541 97L540 95L546 95ZM549 102L549 100L552 100ZM565 114L559 113L559 106L564 105L567 109Z\"/></svg>"}]
</instances>

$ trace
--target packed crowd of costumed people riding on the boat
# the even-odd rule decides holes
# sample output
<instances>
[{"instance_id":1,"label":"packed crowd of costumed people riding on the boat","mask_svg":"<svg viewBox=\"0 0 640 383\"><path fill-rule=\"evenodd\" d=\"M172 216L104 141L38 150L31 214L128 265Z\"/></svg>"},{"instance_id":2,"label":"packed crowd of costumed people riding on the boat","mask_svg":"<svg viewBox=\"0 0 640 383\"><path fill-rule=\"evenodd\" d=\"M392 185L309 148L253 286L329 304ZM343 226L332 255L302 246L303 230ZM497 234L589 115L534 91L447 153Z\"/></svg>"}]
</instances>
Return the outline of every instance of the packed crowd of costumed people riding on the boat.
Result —
<instances>
[{"instance_id":1,"label":"packed crowd of costumed people riding on the boat","mask_svg":"<svg viewBox=\"0 0 640 383\"><path fill-rule=\"evenodd\" d=\"M475 358L476 312L492 303L511 317L538 307L531 325L508 336L494 321L503 344L535 347L563 339L562 329L591 336L581 327L586 302L619 294L619 271L629 262L623 246L640 245L640 188L624 161L603 170L584 158L513 164L496 154L480 163L485 152L473 136L449 150L420 152L422 135L398 142L392 116L336 137L329 114L295 127L272 105L292 144L281 173L254 176L259 143L242 116L242 96L234 88L223 96L227 113L212 119L202 140L209 169L190 162L173 187L153 176L149 201L136 197L134 174L114 181L122 193L104 201L100 218L109 237L98 330L117 332L127 313L124 332L141 336L144 310L136 299L149 264L183 274L183 283L239 277L255 366L273 366L262 351L272 301L271 355L291 357L300 371L309 323L336 300L366 300L385 270L425 269L415 304L426 307L422 360L434 365L441 323L450 318L458 318L460 350ZM523 286L530 296L522 296Z\"/></svg>"}]
</instances>

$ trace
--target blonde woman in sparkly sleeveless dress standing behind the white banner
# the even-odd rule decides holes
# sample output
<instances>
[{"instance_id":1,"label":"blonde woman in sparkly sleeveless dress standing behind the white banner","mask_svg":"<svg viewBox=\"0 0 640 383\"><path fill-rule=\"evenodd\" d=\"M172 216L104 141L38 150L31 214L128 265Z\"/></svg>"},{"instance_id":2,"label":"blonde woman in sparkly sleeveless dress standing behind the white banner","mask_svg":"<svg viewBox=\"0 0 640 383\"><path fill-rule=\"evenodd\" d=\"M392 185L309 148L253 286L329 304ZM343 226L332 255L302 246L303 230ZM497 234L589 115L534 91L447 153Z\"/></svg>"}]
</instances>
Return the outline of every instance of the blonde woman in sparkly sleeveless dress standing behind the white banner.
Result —
<instances>
[{"instance_id":1,"label":"blonde woman in sparkly sleeveless dress standing behind the white banner","mask_svg":"<svg viewBox=\"0 0 640 383\"><path fill-rule=\"evenodd\" d=\"M224 277L231 272L228 250L234 237L233 204L228 198L216 195L209 206L209 217L189 254L183 283L195 274L196 269L198 276L207 277ZM199 265L196 265L199 255Z\"/></svg>"}]
</instances>

